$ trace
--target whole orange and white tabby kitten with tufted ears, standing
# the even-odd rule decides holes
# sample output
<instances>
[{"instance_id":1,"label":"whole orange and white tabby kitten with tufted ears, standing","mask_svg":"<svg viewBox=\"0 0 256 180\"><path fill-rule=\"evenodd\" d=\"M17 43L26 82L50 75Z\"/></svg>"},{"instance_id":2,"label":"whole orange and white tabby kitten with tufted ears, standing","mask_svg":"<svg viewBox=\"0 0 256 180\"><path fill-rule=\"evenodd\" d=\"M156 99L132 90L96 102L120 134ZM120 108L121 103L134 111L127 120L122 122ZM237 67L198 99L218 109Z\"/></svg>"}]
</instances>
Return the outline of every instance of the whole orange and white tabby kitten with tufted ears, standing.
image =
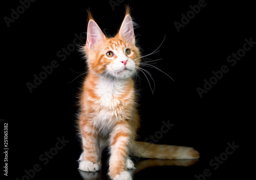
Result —
<instances>
[{"instance_id":1,"label":"whole orange and white tabby kitten with tufted ears, standing","mask_svg":"<svg viewBox=\"0 0 256 180\"><path fill-rule=\"evenodd\" d=\"M136 141L139 127L134 75L140 63L129 8L117 35L107 38L89 13L87 42L82 48L88 74L80 95L79 131L83 153L79 169L98 171L101 152L110 149L111 179L132 179L129 155L155 159L198 159L191 147Z\"/></svg>"}]
</instances>

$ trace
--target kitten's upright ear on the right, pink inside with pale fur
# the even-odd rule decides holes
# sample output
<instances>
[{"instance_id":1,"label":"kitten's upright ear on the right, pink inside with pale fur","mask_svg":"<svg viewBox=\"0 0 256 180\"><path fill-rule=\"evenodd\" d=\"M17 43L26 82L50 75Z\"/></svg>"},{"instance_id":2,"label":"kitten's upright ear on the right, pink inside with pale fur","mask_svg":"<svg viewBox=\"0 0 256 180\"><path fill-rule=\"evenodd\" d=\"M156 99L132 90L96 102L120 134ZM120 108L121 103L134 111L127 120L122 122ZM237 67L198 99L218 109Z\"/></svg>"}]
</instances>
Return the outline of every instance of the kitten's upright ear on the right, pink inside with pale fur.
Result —
<instances>
[{"instance_id":1,"label":"kitten's upright ear on the right, pink inside with pale fur","mask_svg":"<svg viewBox=\"0 0 256 180\"><path fill-rule=\"evenodd\" d=\"M130 14L127 14L122 22L121 28L118 33L127 42L135 44L135 35L133 30L133 20Z\"/></svg>"}]
</instances>

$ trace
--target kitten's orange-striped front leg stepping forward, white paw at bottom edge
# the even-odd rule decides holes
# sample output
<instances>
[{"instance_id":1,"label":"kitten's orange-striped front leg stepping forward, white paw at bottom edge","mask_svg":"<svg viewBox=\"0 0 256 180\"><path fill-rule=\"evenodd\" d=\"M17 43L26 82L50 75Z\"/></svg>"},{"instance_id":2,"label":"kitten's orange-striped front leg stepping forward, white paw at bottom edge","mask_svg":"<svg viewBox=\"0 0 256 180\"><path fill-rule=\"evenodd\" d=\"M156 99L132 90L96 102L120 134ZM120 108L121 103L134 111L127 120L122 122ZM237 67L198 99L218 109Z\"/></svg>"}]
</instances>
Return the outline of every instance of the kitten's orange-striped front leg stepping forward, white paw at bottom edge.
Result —
<instances>
[{"instance_id":1,"label":"kitten's orange-striped front leg stepping forward, white paw at bottom edge","mask_svg":"<svg viewBox=\"0 0 256 180\"><path fill-rule=\"evenodd\" d=\"M130 172L126 170L126 160L131 142L131 127L127 121L119 121L111 133L111 179L132 180Z\"/></svg>"}]
</instances>

